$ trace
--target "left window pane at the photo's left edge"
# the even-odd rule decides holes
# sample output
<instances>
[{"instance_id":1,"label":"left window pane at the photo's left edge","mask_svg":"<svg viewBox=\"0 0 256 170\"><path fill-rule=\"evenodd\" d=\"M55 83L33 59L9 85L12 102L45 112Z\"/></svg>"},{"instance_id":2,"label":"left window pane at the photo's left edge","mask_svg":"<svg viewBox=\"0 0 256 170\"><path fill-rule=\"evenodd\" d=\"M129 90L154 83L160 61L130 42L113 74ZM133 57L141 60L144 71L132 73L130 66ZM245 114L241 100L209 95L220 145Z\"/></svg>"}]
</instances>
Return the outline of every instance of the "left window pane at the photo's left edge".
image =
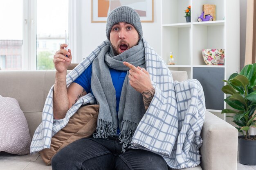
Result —
<instances>
[{"instance_id":1,"label":"left window pane at the photo's left edge","mask_svg":"<svg viewBox=\"0 0 256 170\"><path fill-rule=\"evenodd\" d=\"M0 68L2 70L22 69L22 7L21 0L1 1Z\"/></svg>"}]
</instances>

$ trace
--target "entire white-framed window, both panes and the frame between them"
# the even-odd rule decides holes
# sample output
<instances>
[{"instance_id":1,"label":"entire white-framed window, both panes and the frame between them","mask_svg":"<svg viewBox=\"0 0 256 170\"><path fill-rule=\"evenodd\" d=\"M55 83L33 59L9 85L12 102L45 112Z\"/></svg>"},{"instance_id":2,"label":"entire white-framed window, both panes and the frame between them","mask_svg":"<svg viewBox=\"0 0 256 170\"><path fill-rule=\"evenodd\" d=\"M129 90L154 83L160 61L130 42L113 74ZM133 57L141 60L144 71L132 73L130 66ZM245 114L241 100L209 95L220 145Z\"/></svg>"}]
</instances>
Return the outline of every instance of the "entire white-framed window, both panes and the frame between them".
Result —
<instances>
[{"instance_id":1,"label":"entire white-framed window, both panes and the frame between them","mask_svg":"<svg viewBox=\"0 0 256 170\"><path fill-rule=\"evenodd\" d=\"M13 5L15 4L15 5ZM68 33L69 0L4 0L0 5L0 68L54 70Z\"/></svg>"}]
</instances>

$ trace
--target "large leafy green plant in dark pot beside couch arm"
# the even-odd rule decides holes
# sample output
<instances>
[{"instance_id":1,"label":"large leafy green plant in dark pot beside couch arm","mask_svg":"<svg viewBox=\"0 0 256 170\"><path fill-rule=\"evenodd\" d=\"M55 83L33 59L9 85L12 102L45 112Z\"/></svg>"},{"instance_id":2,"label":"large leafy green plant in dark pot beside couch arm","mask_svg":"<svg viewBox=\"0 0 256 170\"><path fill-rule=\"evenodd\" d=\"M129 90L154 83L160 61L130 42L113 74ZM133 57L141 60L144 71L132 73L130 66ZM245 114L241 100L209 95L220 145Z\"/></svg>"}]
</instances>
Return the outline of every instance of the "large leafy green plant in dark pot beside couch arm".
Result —
<instances>
[{"instance_id":1,"label":"large leafy green plant in dark pot beside couch arm","mask_svg":"<svg viewBox=\"0 0 256 170\"><path fill-rule=\"evenodd\" d=\"M227 95L225 102L234 109L224 109L221 113L233 113L233 122L238 126L239 161L246 165L256 165L256 135L249 135L249 129L256 127L256 63L246 65L240 72L233 73L222 92Z\"/></svg>"}]
</instances>

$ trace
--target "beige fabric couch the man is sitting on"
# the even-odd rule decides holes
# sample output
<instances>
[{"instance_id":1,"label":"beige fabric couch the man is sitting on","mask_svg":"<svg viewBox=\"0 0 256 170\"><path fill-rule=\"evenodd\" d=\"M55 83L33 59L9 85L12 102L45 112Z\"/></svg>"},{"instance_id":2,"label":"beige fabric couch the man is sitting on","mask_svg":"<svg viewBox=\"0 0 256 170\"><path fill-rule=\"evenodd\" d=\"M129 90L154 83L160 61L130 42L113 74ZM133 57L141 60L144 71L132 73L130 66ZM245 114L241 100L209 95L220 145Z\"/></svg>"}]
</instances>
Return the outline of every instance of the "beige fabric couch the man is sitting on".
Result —
<instances>
[{"instance_id":1,"label":"beige fabric couch the man is sitting on","mask_svg":"<svg viewBox=\"0 0 256 170\"><path fill-rule=\"evenodd\" d=\"M184 71L171 71L173 79L187 79ZM41 122L42 110L55 71L0 71L0 95L16 98L27 119L31 139ZM201 136L201 163L187 170L236 170L238 132L234 126L206 111ZM0 153L0 170L51 170L38 153Z\"/></svg>"}]
</instances>

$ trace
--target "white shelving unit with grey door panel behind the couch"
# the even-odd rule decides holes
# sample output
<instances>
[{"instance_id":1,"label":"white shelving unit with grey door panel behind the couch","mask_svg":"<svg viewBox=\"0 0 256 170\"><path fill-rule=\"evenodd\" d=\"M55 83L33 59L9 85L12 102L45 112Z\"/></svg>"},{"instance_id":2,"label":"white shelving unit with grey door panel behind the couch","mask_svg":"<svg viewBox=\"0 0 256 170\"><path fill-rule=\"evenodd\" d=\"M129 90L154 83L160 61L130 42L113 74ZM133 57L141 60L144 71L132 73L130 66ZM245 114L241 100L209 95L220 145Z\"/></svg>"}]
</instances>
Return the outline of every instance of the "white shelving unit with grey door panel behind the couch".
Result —
<instances>
[{"instance_id":1,"label":"white shelving unit with grey door panel behind the couch","mask_svg":"<svg viewBox=\"0 0 256 170\"><path fill-rule=\"evenodd\" d=\"M239 0L161 0L161 3L163 59L168 63L170 52L173 52L175 65L168 65L168 68L187 71L189 78L197 78L205 87L207 109L220 112L226 108L226 96L220 87L224 85L222 79L239 72ZM216 21L197 21L203 4L216 5ZM189 5L191 22L186 23L184 10ZM206 65L202 57L204 48L225 49L225 64Z\"/></svg>"}]
</instances>

